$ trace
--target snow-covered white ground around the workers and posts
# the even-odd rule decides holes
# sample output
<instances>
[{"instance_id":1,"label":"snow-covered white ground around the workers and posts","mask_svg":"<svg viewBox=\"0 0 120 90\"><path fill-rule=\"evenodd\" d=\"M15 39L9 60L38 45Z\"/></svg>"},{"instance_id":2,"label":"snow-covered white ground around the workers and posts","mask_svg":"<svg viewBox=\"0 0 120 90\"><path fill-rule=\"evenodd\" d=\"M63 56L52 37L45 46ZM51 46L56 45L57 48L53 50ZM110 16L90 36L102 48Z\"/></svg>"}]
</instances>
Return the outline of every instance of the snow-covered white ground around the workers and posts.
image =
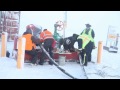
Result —
<instances>
[{"instance_id":1,"label":"snow-covered white ground around the workers and posts","mask_svg":"<svg viewBox=\"0 0 120 90\"><path fill-rule=\"evenodd\" d=\"M7 46L7 50L12 53L13 42L7 43ZM97 62L97 49L93 50L92 61ZM17 69L16 65L16 61L11 56L0 57L0 79L71 79L54 65L47 63L43 66L24 64L23 69ZM85 79L81 66L76 62L66 62L61 67L72 76ZM85 71L89 79L120 79L120 53L109 53L103 50L101 64L88 63Z\"/></svg>"}]
</instances>

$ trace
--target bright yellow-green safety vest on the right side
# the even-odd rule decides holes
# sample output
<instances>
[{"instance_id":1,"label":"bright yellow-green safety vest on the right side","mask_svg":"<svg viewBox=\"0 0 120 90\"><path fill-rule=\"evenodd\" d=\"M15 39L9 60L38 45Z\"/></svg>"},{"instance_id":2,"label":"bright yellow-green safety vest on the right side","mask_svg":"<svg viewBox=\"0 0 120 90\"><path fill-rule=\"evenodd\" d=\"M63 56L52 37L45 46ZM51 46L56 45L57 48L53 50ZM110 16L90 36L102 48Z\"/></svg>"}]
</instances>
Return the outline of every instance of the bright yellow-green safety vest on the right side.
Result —
<instances>
[{"instance_id":1,"label":"bright yellow-green safety vest on the right side","mask_svg":"<svg viewBox=\"0 0 120 90\"><path fill-rule=\"evenodd\" d=\"M94 39L92 38L91 32L92 29L90 29L90 31L88 32L88 34L85 33L86 29L83 31L82 35L79 35L77 39L82 39L83 44L82 44L82 48L84 49L85 46L91 41L94 43Z\"/></svg>"}]
</instances>

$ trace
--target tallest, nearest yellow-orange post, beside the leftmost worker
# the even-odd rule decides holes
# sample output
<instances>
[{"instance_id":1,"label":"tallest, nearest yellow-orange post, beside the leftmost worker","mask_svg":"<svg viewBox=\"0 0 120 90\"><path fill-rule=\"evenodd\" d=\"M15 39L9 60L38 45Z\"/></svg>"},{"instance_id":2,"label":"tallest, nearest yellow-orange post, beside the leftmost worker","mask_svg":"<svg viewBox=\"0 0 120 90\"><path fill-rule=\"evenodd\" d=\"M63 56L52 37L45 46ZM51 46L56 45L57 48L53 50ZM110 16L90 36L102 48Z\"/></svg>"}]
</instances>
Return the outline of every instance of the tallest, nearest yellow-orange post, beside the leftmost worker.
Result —
<instances>
[{"instance_id":1,"label":"tallest, nearest yellow-orange post, beside the leftmost worker","mask_svg":"<svg viewBox=\"0 0 120 90\"><path fill-rule=\"evenodd\" d=\"M17 68L18 69L21 69L24 66L25 43L26 43L26 39L24 37L19 37L18 56L17 56Z\"/></svg>"}]
</instances>

